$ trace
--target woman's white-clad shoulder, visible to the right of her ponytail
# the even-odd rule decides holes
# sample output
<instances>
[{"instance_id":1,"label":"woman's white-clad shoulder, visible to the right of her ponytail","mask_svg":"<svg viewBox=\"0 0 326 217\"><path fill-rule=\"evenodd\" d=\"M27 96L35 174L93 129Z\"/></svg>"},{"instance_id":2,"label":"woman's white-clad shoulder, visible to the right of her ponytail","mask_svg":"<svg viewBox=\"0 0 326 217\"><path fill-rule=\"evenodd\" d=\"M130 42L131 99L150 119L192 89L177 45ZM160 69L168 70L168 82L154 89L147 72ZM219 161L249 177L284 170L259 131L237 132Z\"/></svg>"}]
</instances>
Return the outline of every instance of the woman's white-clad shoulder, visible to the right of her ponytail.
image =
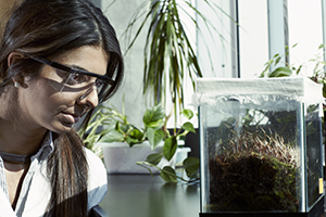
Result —
<instances>
[{"instance_id":1,"label":"woman's white-clad shoulder, visible to the right of her ponytail","mask_svg":"<svg viewBox=\"0 0 326 217\"><path fill-rule=\"evenodd\" d=\"M108 176L103 162L93 152L85 148L88 163L88 209L98 205L108 190Z\"/></svg>"}]
</instances>

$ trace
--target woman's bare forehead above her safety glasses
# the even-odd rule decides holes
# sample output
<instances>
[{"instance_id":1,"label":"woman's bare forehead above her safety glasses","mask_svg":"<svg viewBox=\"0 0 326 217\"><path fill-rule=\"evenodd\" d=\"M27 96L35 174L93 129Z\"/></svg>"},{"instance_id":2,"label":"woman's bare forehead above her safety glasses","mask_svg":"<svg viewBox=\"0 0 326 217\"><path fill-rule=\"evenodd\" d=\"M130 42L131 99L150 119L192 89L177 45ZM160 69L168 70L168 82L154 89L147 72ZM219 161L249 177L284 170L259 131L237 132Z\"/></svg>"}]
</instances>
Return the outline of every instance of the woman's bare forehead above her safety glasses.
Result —
<instances>
[{"instance_id":1,"label":"woman's bare forehead above her safety glasses","mask_svg":"<svg viewBox=\"0 0 326 217\"><path fill-rule=\"evenodd\" d=\"M63 65L83 68L90 73L105 75L109 55L101 47L84 46L67 51L52 61Z\"/></svg>"}]
</instances>

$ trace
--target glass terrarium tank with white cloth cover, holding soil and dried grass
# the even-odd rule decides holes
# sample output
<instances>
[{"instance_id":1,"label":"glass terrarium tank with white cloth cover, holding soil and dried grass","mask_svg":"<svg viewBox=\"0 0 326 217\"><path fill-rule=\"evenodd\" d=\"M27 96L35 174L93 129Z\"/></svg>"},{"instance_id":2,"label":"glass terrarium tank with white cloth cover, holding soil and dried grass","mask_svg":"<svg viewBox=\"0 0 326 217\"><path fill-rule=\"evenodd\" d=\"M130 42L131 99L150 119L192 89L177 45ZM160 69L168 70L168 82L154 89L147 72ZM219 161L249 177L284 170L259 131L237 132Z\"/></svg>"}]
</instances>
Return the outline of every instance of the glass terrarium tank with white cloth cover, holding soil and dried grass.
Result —
<instances>
[{"instance_id":1,"label":"glass terrarium tank with white cloth cover, holding soil and dried grass","mask_svg":"<svg viewBox=\"0 0 326 217\"><path fill-rule=\"evenodd\" d=\"M322 85L201 78L195 95L200 216L323 212Z\"/></svg>"}]
</instances>

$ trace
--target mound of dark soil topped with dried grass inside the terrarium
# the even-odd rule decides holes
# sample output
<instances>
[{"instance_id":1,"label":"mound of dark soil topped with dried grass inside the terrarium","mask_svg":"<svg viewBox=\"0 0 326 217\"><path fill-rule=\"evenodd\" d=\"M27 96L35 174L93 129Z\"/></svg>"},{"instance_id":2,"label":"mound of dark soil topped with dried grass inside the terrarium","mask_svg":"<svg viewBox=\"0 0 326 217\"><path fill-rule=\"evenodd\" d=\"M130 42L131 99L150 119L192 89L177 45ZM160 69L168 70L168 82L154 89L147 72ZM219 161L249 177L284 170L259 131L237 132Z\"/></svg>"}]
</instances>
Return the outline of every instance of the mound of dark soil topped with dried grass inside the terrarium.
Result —
<instances>
[{"instance_id":1,"label":"mound of dark soil topped with dried grass inside the terrarium","mask_svg":"<svg viewBox=\"0 0 326 217\"><path fill-rule=\"evenodd\" d=\"M210 161L211 210L298 210L297 151L277 133L260 132L234 132Z\"/></svg>"}]
</instances>

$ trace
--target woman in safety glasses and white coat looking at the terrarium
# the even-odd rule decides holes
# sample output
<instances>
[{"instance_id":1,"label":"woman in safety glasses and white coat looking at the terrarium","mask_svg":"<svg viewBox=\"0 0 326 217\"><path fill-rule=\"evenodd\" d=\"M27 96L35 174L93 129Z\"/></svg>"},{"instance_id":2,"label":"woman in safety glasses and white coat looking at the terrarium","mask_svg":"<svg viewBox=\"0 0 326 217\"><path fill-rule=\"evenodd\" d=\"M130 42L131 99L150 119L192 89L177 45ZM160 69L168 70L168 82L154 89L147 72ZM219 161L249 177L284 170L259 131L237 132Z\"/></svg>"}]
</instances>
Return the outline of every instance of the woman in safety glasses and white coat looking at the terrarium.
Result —
<instances>
[{"instance_id":1,"label":"woman in safety glasses and white coat looking at the terrarium","mask_svg":"<svg viewBox=\"0 0 326 217\"><path fill-rule=\"evenodd\" d=\"M0 48L0 216L87 216L101 161L73 129L123 77L113 27L87 0L25 0Z\"/></svg>"}]
</instances>

